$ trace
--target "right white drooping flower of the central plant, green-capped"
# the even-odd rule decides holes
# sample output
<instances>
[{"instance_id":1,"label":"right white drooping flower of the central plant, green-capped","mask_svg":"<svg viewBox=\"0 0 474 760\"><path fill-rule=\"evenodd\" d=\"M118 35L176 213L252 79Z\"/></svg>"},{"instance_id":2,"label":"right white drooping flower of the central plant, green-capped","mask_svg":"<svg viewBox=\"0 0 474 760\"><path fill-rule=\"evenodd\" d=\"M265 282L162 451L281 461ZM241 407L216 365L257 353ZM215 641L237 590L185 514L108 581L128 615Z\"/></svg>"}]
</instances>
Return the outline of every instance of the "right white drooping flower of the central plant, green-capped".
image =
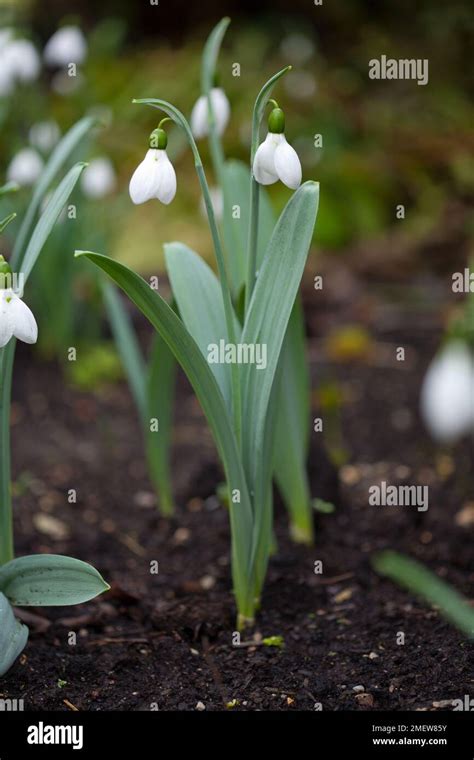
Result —
<instances>
[{"instance_id":1,"label":"right white drooping flower of the central plant, green-capped","mask_svg":"<svg viewBox=\"0 0 474 760\"><path fill-rule=\"evenodd\" d=\"M294 148L287 143L284 129L285 116L281 108L276 107L268 118L268 134L255 154L253 175L261 185L281 180L296 190L301 184L301 163Z\"/></svg>"}]
</instances>

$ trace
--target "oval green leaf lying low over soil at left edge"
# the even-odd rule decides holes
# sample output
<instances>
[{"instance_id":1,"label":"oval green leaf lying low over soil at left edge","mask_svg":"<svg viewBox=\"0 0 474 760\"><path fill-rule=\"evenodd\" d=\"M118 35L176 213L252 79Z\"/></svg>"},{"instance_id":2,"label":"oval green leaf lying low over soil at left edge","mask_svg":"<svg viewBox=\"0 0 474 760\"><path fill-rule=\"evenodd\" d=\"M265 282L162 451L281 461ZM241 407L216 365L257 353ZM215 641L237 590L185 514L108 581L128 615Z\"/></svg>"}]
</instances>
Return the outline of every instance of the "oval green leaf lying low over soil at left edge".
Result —
<instances>
[{"instance_id":1,"label":"oval green leaf lying low over soil at left edge","mask_svg":"<svg viewBox=\"0 0 474 760\"><path fill-rule=\"evenodd\" d=\"M0 567L0 591L19 607L81 604L108 588L92 565L60 554L19 557Z\"/></svg>"}]
</instances>

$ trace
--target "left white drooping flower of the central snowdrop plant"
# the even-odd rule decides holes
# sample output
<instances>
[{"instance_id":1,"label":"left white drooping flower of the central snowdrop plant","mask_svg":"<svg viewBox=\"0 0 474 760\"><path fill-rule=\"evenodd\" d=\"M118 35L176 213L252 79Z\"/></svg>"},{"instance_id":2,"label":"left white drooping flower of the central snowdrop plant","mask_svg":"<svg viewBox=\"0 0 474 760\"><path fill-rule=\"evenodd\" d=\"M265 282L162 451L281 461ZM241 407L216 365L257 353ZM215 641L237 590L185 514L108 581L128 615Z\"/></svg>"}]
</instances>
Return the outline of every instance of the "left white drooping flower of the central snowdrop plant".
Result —
<instances>
[{"instance_id":1,"label":"left white drooping flower of the central snowdrop plant","mask_svg":"<svg viewBox=\"0 0 474 760\"><path fill-rule=\"evenodd\" d=\"M130 180L130 198L135 204L158 198L168 205L176 195L176 173L166 153L167 143L166 132L160 127L151 133L150 149Z\"/></svg>"}]
</instances>

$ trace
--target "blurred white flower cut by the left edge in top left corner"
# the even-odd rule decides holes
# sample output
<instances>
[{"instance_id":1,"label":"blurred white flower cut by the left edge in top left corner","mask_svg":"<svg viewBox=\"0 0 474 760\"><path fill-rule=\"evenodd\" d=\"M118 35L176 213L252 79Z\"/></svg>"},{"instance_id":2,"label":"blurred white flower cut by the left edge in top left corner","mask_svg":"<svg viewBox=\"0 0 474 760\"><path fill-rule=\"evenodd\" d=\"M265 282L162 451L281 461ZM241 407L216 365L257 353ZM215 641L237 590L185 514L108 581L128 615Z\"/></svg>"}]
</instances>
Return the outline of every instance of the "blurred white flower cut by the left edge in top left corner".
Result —
<instances>
[{"instance_id":1,"label":"blurred white flower cut by the left edge in top left corner","mask_svg":"<svg viewBox=\"0 0 474 760\"><path fill-rule=\"evenodd\" d=\"M40 69L40 57L33 43L14 39L11 29L1 29L0 96L10 95L19 82L33 82Z\"/></svg>"}]
</instances>

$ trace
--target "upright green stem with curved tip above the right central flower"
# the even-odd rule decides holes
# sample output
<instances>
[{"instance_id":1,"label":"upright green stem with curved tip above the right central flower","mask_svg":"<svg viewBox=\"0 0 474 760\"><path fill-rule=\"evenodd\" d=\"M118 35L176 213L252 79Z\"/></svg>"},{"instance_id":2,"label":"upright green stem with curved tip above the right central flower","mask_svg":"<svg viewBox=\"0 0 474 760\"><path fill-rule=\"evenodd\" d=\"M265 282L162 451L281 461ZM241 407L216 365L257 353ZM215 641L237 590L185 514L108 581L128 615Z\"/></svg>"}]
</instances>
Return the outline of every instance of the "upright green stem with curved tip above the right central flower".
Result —
<instances>
[{"instance_id":1,"label":"upright green stem with curved tip above the right central flower","mask_svg":"<svg viewBox=\"0 0 474 760\"><path fill-rule=\"evenodd\" d=\"M259 207L259 184L253 176L253 162L255 160L255 154L258 149L258 141L260 137L260 125L262 123L263 115L267 103L272 105L276 103L275 100L270 100L273 87L278 80L291 70L291 66L281 69L274 74L268 82L266 82L260 90L255 106L253 109L252 117L252 142L250 148L250 219L249 219L249 233L248 233L248 253L247 253L247 281L245 285L245 312L247 313L250 299L252 298L253 287L255 285L255 277L257 271L257 243L258 243L258 207Z\"/></svg>"}]
</instances>

